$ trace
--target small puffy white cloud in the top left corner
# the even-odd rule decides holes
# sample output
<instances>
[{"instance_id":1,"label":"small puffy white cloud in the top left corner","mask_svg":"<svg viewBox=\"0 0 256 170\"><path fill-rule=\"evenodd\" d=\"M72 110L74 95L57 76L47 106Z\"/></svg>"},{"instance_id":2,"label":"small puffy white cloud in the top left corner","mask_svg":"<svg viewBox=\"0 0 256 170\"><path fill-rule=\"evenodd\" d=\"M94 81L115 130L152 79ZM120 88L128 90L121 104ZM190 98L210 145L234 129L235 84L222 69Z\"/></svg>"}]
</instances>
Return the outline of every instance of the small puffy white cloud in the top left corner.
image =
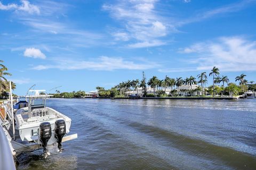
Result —
<instances>
[{"instance_id":1,"label":"small puffy white cloud in the top left corner","mask_svg":"<svg viewBox=\"0 0 256 170\"><path fill-rule=\"evenodd\" d=\"M21 5L17 4L8 4L4 5L0 2L0 10L16 10L16 11L23 11L29 14L40 14L39 7L33 4L30 4L29 1L22 0Z\"/></svg>"}]
</instances>

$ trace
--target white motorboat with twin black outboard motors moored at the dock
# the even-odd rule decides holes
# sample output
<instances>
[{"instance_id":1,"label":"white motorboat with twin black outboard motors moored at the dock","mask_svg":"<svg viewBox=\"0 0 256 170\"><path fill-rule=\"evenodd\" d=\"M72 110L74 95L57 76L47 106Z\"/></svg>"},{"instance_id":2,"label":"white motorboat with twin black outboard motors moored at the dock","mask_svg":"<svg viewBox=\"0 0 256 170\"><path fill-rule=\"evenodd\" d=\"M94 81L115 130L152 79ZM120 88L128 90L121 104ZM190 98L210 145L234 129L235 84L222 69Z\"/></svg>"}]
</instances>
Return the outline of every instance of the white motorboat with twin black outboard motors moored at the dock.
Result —
<instances>
[{"instance_id":1,"label":"white motorboat with twin black outboard motors moored at the dock","mask_svg":"<svg viewBox=\"0 0 256 170\"><path fill-rule=\"evenodd\" d=\"M47 157L47 145L58 143L61 152L62 142L77 138L77 134L67 135L71 119L46 107L50 95L40 95L40 91L45 90L30 90L34 94L18 98L14 105L12 97L3 103L0 128L6 134L12 155L42 147L43 156Z\"/></svg>"}]
</instances>

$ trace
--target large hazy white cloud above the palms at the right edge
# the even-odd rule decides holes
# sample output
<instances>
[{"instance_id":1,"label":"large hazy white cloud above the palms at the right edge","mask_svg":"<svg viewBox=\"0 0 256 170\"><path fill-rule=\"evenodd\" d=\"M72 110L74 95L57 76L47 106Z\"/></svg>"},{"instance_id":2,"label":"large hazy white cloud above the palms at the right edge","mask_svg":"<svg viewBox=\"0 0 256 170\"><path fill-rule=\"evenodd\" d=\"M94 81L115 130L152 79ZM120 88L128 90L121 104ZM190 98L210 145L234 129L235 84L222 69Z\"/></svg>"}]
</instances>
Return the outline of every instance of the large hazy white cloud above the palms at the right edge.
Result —
<instances>
[{"instance_id":1,"label":"large hazy white cloud above the palms at the right edge","mask_svg":"<svg viewBox=\"0 0 256 170\"><path fill-rule=\"evenodd\" d=\"M256 71L256 41L244 37L221 37L186 47L180 52L196 56L190 61L197 70L217 66L221 71Z\"/></svg>"}]
</instances>

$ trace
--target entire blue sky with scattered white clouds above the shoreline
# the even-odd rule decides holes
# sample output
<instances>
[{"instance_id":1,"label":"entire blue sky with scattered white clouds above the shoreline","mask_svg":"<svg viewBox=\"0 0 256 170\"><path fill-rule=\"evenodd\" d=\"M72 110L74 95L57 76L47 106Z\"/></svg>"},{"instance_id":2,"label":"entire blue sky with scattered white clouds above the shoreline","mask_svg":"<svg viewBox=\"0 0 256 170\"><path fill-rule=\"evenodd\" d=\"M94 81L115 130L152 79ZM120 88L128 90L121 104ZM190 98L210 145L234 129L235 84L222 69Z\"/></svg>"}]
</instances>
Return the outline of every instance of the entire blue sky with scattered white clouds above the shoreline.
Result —
<instances>
[{"instance_id":1,"label":"entire blue sky with scattered white clouds above the shoreline","mask_svg":"<svg viewBox=\"0 0 256 170\"><path fill-rule=\"evenodd\" d=\"M0 60L16 94L190 77L256 81L256 1L3 1ZM211 84L209 80L209 85Z\"/></svg>"}]
</instances>

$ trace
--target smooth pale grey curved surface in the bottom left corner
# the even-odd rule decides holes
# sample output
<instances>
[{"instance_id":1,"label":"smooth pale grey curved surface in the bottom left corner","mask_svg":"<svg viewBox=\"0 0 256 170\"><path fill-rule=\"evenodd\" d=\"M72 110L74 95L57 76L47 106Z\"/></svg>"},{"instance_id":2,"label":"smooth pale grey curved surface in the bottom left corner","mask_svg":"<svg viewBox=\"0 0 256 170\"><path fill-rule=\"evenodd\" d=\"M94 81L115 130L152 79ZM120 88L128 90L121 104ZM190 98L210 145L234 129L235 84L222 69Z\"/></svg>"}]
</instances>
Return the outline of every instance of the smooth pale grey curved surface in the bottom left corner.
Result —
<instances>
[{"instance_id":1,"label":"smooth pale grey curved surface in the bottom left corner","mask_svg":"<svg viewBox=\"0 0 256 170\"><path fill-rule=\"evenodd\" d=\"M0 169L16 169L12 151L2 125L0 125Z\"/></svg>"}]
</instances>

